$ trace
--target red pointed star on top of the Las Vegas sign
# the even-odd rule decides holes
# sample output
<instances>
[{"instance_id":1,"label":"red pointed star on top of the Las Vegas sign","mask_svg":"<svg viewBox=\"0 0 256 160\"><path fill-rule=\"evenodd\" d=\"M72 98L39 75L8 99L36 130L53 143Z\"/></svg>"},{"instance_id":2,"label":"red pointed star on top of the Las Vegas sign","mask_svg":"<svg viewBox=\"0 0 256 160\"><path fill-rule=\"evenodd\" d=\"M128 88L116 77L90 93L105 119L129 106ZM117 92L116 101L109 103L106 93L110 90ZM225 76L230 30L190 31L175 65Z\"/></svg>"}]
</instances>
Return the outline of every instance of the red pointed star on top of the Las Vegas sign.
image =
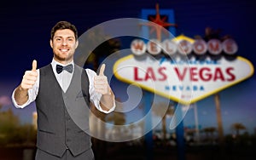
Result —
<instances>
[{"instance_id":1,"label":"red pointed star on top of the Las Vegas sign","mask_svg":"<svg viewBox=\"0 0 256 160\"><path fill-rule=\"evenodd\" d=\"M155 14L155 17L149 17L149 20L152 21L153 23L151 22L148 22L148 23L143 23L141 25L144 25L144 26L151 26L151 30L150 30L150 33L153 33L154 31L156 32L156 37L157 39L160 41L161 40L161 31L164 29L164 27L166 26L175 26L177 27L177 24L172 24L172 23L168 23L166 22L166 16L161 18L160 16L160 13L159 13L159 4L156 3L156 14ZM166 30L163 30L166 32Z\"/></svg>"}]
</instances>

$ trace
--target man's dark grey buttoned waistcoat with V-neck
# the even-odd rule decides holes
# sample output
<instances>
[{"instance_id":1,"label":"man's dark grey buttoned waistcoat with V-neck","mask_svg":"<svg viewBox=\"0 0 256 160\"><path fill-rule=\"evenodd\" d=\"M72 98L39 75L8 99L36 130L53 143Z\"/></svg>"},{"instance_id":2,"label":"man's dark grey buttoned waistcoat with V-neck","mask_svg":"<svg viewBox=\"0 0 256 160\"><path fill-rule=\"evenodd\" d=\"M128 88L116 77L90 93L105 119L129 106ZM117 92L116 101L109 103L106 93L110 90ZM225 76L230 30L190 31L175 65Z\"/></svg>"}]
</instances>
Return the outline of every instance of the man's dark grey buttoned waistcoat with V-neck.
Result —
<instances>
[{"instance_id":1,"label":"man's dark grey buttoned waistcoat with V-neck","mask_svg":"<svg viewBox=\"0 0 256 160\"><path fill-rule=\"evenodd\" d=\"M66 93L51 65L40 68L39 80L38 148L59 157L67 149L74 156L90 149L90 135L86 134L89 132L89 80L84 69L74 67Z\"/></svg>"}]
</instances>

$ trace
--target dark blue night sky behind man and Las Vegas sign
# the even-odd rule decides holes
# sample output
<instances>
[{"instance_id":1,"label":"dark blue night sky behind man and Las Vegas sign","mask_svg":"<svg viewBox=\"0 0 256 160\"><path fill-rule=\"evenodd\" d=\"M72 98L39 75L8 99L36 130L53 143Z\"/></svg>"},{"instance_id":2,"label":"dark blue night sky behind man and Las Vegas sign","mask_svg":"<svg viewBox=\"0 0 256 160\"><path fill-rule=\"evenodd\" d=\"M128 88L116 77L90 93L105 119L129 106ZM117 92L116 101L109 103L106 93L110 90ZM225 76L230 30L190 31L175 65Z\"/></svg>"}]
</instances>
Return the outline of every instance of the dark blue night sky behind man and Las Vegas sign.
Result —
<instances>
[{"instance_id":1,"label":"dark blue night sky behind man and Las Vegas sign","mask_svg":"<svg viewBox=\"0 0 256 160\"><path fill-rule=\"evenodd\" d=\"M7 1L0 5L1 77L0 97L9 97L20 83L24 71L30 70L32 60L38 67L49 64L52 50L49 46L50 29L59 20L77 26L79 35L102 22L118 18L140 18L142 9L174 9L177 35L188 37L204 35L207 26L220 29L221 35L229 34L239 46L238 55L256 66L256 3L249 0L130 0L130 1ZM119 28L121 30L121 28ZM220 92L225 133L231 123L243 123L249 132L256 128L256 77L250 77ZM118 90L116 91L119 92ZM7 106L9 105L6 100ZM213 97L197 102L199 122L202 126L217 126ZM29 121L35 108L17 111L21 119ZM184 119L193 125L193 111ZM131 115L130 115L131 116ZM131 116L132 117L132 116ZM192 123L191 123L192 122Z\"/></svg>"}]
</instances>

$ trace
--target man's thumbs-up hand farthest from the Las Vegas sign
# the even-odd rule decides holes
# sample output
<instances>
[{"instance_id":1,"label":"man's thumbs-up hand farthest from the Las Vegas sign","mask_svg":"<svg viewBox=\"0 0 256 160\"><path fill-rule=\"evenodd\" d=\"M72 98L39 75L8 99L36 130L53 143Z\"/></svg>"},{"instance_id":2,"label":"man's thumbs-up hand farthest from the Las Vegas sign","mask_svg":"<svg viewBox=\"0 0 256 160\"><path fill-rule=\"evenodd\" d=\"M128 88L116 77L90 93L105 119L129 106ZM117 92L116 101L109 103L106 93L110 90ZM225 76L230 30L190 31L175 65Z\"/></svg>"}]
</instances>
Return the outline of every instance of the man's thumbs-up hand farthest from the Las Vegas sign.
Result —
<instances>
[{"instance_id":1,"label":"man's thumbs-up hand farthest from the Las Vegas sign","mask_svg":"<svg viewBox=\"0 0 256 160\"><path fill-rule=\"evenodd\" d=\"M22 78L22 81L20 83L21 89L32 89L37 79L38 79L37 60L33 60L32 70L25 71L25 74Z\"/></svg>"}]
</instances>

